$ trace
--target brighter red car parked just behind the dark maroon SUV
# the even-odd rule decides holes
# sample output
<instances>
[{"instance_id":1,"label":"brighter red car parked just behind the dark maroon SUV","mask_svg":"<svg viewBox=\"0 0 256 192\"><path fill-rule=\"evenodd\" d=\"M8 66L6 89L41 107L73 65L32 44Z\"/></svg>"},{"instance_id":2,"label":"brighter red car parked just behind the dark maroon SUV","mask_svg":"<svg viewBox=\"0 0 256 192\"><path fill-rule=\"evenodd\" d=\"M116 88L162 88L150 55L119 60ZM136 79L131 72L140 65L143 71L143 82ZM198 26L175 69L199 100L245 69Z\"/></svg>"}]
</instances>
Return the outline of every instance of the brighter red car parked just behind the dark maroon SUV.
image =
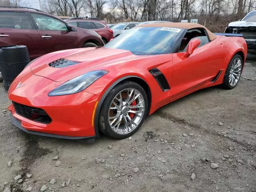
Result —
<instances>
[{"instance_id":1,"label":"brighter red car parked just behind the dark maroon SUV","mask_svg":"<svg viewBox=\"0 0 256 192\"><path fill-rule=\"evenodd\" d=\"M106 22L97 20L96 18L71 18L66 20L66 22L79 28L94 30L102 37L105 44L114 38L113 31L108 27Z\"/></svg>"}]
</instances>

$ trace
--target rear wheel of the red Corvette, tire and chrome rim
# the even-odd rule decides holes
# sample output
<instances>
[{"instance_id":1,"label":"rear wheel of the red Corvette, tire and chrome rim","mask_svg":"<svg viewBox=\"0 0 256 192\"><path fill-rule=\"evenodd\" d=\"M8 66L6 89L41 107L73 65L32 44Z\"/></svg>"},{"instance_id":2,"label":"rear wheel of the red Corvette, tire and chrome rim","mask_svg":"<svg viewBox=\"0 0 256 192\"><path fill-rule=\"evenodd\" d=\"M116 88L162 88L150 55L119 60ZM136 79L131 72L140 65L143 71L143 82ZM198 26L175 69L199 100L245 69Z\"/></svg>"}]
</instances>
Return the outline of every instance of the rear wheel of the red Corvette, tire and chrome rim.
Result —
<instances>
[{"instance_id":1,"label":"rear wheel of the red Corvette, tire and chrome rim","mask_svg":"<svg viewBox=\"0 0 256 192\"><path fill-rule=\"evenodd\" d=\"M228 67L226 69L226 73L223 78L222 86L226 89L232 89L240 80L241 72L243 67L243 60L242 57L238 54L236 54L230 63L228 64Z\"/></svg>"}]
</instances>

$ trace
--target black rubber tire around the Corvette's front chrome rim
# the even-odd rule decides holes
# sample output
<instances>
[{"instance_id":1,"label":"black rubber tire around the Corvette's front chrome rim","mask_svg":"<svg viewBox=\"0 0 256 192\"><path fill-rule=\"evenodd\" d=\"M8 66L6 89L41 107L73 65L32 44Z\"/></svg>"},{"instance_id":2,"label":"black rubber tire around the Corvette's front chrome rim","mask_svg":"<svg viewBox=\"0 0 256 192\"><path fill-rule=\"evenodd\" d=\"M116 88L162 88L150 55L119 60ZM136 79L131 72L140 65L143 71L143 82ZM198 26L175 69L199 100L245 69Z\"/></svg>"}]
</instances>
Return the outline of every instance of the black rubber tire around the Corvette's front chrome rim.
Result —
<instances>
[{"instance_id":1,"label":"black rubber tire around the Corvette's front chrome rim","mask_svg":"<svg viewBox=\"0 0 256 192\"><path fill-rule=\"evenodd\" d=\"M134 130L132 130L128 134L118 134L118 133L116 133L112 130L112 128L110 127L110 125L108 123L108 109L109 109L114 97L120 91L124 90L125 88L136 88L137 90L139 90L142 93L142 96L143 96L144 102L145 102L145 108L144 108L145 110L144 110L144 114L142 116L142 119L140 120L140 123L137 125L136 128L134 128ZM148 110L148 98L147 98L145 90L139 84L137 84L136 82L132 82L132 81L121 82L121 83L117 84L108 93L108 95L106 96L106 98L105 98L105 100L104 100L104 102L101 106L100 114L99 114L99 128L100 128L100 131L103 134L105 134L106 136L110 137L110 138L114 138L114 139L128 138L129 136L134 134L136 131L138 131L138 129L142 125L144 119L146 118L147 110Z\"/></svg>"}]
</instances>

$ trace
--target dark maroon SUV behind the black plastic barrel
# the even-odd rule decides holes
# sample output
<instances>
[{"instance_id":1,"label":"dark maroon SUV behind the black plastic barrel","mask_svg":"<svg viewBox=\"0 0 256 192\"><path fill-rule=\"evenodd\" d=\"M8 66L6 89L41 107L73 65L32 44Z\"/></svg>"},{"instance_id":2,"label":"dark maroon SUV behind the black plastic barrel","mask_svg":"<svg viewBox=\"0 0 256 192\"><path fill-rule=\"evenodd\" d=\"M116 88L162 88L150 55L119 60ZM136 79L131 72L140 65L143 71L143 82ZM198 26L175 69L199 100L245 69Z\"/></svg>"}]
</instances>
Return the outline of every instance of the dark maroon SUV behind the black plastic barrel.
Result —
<instances>
[{"instance_id":1,"label":"dark maroon SUV behind the black plastic barrel","mask_svg":"<svg viewBox=\"0 0 256 192\"><path fill-rule=\"evenodd\" d=\"M40 10L0 7L0 46L26 45L30 59L50 52L104 46L92 30L74 27Z\"/></svg>"}]
</instances>

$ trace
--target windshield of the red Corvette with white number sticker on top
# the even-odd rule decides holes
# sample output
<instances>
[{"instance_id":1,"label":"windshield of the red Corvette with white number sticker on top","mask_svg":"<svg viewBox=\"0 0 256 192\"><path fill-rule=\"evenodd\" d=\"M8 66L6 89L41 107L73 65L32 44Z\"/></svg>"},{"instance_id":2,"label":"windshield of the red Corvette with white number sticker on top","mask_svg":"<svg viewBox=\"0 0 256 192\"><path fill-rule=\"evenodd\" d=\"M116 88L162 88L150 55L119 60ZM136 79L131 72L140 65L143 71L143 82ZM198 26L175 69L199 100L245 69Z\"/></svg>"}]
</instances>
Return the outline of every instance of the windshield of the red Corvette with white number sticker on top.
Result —
<instances>
[{"instance_id":1,"label":"windshield of the red Corvette with white number sticker on top","mask_svg":"<svg viewBox=\"0 0 256 192\"><path fill-rule=\"evenodd\" d=\"M135 55L167 54L182 31L171 27L135 27L114 38L105 47L128 50Z\"/></svg>"}]
</instances>

